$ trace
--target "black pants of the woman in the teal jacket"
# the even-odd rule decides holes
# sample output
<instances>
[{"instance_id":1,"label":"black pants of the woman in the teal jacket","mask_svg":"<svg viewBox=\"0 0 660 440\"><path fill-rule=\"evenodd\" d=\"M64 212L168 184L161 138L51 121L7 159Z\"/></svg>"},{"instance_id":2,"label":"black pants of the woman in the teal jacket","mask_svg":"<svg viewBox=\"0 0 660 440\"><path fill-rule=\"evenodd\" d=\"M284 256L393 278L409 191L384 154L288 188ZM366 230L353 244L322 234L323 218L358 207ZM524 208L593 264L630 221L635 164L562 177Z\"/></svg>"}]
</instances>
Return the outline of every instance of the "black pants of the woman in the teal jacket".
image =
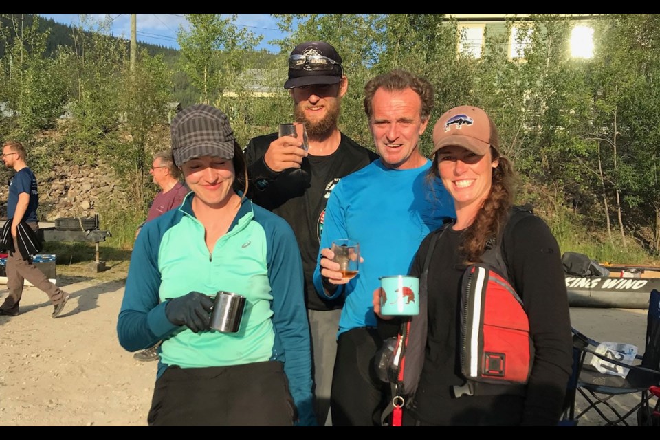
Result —
<instances>
[{"instance_id":1,"label":"black pants of the woman in the teal jacket","mask_svg":"<svg viewBox=\"0 0 660 440\"><path fill-rule=\"evenodd\" d=\"M181 369L153 391L150 426L292 426L296 406L282 362Z\"/></svg>"}]
</instances>

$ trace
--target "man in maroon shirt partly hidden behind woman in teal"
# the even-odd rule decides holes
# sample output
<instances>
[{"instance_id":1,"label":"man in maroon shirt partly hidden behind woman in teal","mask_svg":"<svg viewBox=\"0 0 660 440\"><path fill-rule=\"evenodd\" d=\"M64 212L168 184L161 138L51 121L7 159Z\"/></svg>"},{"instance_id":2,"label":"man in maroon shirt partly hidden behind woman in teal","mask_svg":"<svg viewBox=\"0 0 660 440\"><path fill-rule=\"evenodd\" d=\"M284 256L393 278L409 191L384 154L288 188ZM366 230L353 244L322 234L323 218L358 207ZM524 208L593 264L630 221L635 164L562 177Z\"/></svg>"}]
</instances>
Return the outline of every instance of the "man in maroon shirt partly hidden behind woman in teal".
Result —
<instances>
[{"instance_id":1,"label":"man in maroon shirt partly hidden behind woman in teal","mask_svg":"<svg viewBox=\"0 0 660 440\"><path fill-rule=\"evenodd\" d=\"M160 153L156 153L156 155L154 155L149 174L151 174L153 177L153 183L160 187L160 191L151 202L151 206L149 206L149 212L144 223L155 219L160 214L164 214L170 209L178 208L181 206L181 202L184 201L184 197L186 197L186 194L190 192L188 187L179 181L181 173L179 172L179 168L177 168L177 166L174 164L171 151L161 151ZM140 234L140 230L142 229L144 223L137 227L137 230L135 231L136 239L137 234ZM153 347L138 351L133 355L133 358L142 362L158 360L159 347L160 342L155 344Z\"/></svg>"}]
</instances>

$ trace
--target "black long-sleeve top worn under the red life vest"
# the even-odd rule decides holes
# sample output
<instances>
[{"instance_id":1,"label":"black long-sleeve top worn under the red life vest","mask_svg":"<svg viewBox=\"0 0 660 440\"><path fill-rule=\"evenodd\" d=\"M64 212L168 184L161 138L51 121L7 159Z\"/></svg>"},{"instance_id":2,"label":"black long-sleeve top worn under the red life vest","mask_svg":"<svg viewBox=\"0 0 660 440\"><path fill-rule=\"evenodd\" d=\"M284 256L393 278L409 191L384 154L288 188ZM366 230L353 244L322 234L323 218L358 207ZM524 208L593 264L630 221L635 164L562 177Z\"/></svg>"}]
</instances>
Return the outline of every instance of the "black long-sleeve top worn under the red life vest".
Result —
<instances>
[{"instance_id":1,"label":"black long-sleeve top worn under the red life vest","mask_svg":"<svg viewBox=\"0 0 660 440\"><path fill-rule=\"evenodd\" d=\"M558 245L542 219L521 219L504 236L509 279L522 297L529 318L535 359L527 395L463 396L451 388L465 381L460 373L461 276L457 252L461 232L439 239L428 271L428 340L412 414L439 425L553 425L561 413L572 364L569 304ZM421 274L429 239L419 248L412 274Z\"/></svg>"}]
</instances>

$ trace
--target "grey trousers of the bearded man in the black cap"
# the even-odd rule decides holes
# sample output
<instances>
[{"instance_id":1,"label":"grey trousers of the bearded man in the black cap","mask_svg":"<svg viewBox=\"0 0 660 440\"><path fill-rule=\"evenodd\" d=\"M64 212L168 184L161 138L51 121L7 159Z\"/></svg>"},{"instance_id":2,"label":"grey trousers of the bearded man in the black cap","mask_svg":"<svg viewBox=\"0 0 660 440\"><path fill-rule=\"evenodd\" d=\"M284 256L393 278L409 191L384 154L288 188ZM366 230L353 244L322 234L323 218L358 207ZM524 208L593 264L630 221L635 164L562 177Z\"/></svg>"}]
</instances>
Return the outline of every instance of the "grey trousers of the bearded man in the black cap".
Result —
<instances>
[{"instance_id":1,"label":"grey trousers of the bearded man in the black cap","mask_svg":"<svg viewBox=\"0 0 660 440\"><path fill-rule=\"evenodd\" d=\"M342 310L307 310L314 361L314 411L319 426L331 426L330 391Z\"/></svg>"}]
</instances>

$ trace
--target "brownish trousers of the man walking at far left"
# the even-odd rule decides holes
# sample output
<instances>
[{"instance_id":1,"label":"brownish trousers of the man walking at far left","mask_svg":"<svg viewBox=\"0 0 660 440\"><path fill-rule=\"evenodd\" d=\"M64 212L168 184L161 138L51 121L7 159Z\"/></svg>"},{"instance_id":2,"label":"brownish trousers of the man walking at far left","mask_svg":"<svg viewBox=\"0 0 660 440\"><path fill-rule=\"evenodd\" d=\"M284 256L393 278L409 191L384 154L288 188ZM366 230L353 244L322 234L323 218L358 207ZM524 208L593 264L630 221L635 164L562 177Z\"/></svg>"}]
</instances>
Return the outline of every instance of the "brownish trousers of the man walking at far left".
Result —
<instances>
[{"instance_id":1,"label":"brownish trousers of the man walking at far left","mask_svg":"<svg viewBox=\"0 0 660 440\"><path fill-rule=\"evenodd\" d=\"M37 223L28 223L32 230L39 229ZM48 278L30 261L24 260L19 252L19 243L14 237L14 249L16 252L7 256L7 289L9 296L5 298L5 302L0 306L0 309L13 311L19 308L21 296L23 296L23 281L28 280L34 287L43 292L46 292L50 302L53 305L59 304L64 298L64 292L48 281Z\"/></svg>"}]
</instances>

